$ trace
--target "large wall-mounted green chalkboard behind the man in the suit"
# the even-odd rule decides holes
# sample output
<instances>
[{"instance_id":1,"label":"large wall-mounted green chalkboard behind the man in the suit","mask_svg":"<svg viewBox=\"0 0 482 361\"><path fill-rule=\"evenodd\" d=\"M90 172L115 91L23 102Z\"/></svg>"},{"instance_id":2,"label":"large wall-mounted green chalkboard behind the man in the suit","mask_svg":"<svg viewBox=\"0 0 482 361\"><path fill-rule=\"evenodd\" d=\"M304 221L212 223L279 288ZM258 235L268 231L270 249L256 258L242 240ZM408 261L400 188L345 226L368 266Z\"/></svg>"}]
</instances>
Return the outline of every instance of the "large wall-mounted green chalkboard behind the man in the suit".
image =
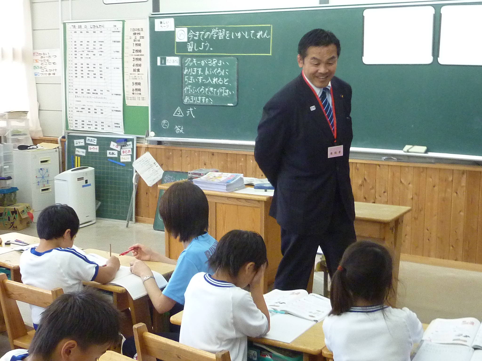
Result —
<instances>
[{"instance_id":1,"label":"large wall-mounted green chalkboard behind the man in the suit","mask_svg":"<svg viewBox=\"0 0 482 361\"><path fill-rule=\"evenodd\" d=\"M254 141L263 105L300 74L296 63L299 39L310 29L321 27L340 39L336 75L353 88L352 146L401 150L405 144L420 144L427 146L429 152L482 155L482 68L437 62L440 9L447 4L430 2L435 9L434 61L425 65L363 64L363 11L369 5L152 15L150 130L164 139ZM175 30L155 31L156 19L161 18L173 18L175 29L186 28L187 41L176 41ZM265 38L258 39L259 43L249 39L256 24L264 24L266 29ZM219 29L226 32L229 26L235 27L236 32L246 28L248 37L243 34L239 39L229 39L231 43L227 39L212 39L212 34ZM194 30L199 35L192 35ZM189 42L193 42L191 51L186 51ZM209 52L205 51L207 45L201 49L203 42L209 43ZM463 53L456 47L454 51ZM183 59L213 58L213 52L238 60L237 105L184 104ZM174 62L178 61L179 66L157 65L160 56L177 57ZM183 116L174 116L177 108Z\"/></svg>"}]
</instances>

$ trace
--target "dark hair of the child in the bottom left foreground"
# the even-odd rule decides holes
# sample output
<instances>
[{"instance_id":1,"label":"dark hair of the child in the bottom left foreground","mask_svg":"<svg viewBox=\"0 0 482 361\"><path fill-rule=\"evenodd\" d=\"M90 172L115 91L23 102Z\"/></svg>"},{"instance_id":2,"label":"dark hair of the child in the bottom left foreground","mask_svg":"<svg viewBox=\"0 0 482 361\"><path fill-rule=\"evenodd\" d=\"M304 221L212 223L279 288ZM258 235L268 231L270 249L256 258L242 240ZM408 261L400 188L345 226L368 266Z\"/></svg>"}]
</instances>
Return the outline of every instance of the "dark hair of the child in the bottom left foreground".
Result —
<instances>
[{"instance_id":1,"label":"dark hair of the child in the bottom left foreground","mask_svg":"<svg viewBox=\"0 0 482 361\"><path fill-rule=\"evenodd\" d=\"M119 339L120 311L104 295L88 287L59 296L41 315L29 354L50 360L63 339L75 340L83 350L114 344Z\"/></svg>"}]
</instances>

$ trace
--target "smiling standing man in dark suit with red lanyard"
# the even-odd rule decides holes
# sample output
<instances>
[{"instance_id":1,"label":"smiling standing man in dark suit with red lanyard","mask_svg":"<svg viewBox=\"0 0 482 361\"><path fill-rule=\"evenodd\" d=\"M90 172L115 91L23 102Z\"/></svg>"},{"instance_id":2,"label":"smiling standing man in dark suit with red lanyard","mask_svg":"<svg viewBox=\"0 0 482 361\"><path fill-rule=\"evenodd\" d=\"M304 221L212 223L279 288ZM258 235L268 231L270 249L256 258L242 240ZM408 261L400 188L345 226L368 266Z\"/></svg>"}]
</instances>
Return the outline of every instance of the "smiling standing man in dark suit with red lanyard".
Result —
<instances>
[{"instance_id":1,"label":"smiling standing man in dark suit with red lanyard","mask_svg":"<svg viewBox=\"0 0 482 361\"><path fill-rule=\"evenodd\" d=\"M254 146L275 187L269 214L281 226L275 288L306 288L318 245L330 275L356 240L348 155L351 87L335 77L340 42L322 29L298 44L301 74L263 108Z\"/></svg>"}]
</instances>

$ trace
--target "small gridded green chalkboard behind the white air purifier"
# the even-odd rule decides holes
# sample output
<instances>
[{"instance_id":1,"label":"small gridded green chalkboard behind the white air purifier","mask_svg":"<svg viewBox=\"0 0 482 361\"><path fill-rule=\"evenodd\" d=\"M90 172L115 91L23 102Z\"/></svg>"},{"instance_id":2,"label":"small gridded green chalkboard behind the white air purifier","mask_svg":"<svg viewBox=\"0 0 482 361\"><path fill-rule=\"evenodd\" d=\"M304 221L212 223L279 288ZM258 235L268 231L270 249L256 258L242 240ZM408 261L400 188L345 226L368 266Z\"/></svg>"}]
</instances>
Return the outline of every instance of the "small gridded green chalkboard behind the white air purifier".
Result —
<instances>
[{"instance_id":1,"label":"small gridded green chalkboard behind the white air purifier","mask_svg":"<svg viewBox=\"0 0 482 361\"><path fill-rule=\"evenodd\" d=\"M74 167L95 169L95 200L100 202L95 216L126 220L133 190L132 162L135 159L135 136L67 133L66 138L67 169ZM131 153L130 160L128 155L127 159L121 159L121 150L111 147L111 142L115 143L120 138L128 140L125 149L131 151L124 151L124 153Z\"/></svg>"}]
</instances>

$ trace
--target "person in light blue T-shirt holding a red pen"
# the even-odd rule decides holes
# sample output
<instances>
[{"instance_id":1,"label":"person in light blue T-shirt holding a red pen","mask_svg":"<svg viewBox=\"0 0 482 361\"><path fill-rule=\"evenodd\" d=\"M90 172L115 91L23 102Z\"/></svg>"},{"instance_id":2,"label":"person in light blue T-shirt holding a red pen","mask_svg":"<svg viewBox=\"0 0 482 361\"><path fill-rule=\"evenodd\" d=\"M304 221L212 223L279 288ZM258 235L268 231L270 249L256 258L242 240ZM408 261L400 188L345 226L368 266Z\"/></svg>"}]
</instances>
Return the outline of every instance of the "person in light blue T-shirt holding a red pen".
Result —
<instances>
[{"instance_id":1,"label":"person in light blue T-shirt holding a red pen","mask_svg":"<svg viewBox=\"0 0 482 361\"><path fill-rule=\"evenodd\" d=\"M159 214L165 229L173 237L179 238L184 251L176 261L145 245L133 245L129 249L137 260L131 263L131 271L141 277L154 308L159 313L171 311L174 314L183 309L184 292L192 276L198 272L210 271L207 260L214 253L217 241L207 233L209 205L206 195L201 188L189 181L177 182L164 192L159 204ZM152 271L144 261L176 265L163 291L157 286ZM172 328L171 331L178 332L178 329ZM178 339L178 335L171 336ZM124 355L134 356L124 347L122 352Z\"/></svg>"}]
</instances>

